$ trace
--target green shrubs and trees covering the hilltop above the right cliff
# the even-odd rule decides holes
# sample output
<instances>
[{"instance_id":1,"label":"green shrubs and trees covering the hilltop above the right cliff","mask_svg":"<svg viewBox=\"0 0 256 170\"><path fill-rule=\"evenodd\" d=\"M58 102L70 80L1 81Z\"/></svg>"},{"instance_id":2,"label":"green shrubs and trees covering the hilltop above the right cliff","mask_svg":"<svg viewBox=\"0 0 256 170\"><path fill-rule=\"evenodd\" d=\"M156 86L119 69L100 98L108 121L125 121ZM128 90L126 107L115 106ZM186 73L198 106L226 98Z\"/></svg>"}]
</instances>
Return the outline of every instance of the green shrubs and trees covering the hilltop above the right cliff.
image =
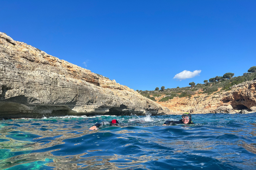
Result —
<instances>
[{"instance_id":1,"label":"green shrubs and trees covering the hilltop above the right cliff","mask_svg":"<svg viewBox=\"0 0 256 170\"><path fill-rule=\"evenodd\" d=\"M221 91L231 90L231 86L240 84L245 81L256 80L256 66L251 67L247 73L244 73L242 76L233 77L234 73L225 73L223 76L216 76L208 80L204 80L204 84L195 84L194 82L189 83L190 87L177 87L177 88L167 88L164 86L159 90L158 87L152 91L142 91L137 90L141 95L157 101L156 97L162 97L158 102L165 102L174 97L191 97L195 92L197 93L207 93L208 95L217 92L219 88ZM200 91L200 92L199 92ZM215 94L215 93L214 93Z\"/></svg>"}]
</instances>

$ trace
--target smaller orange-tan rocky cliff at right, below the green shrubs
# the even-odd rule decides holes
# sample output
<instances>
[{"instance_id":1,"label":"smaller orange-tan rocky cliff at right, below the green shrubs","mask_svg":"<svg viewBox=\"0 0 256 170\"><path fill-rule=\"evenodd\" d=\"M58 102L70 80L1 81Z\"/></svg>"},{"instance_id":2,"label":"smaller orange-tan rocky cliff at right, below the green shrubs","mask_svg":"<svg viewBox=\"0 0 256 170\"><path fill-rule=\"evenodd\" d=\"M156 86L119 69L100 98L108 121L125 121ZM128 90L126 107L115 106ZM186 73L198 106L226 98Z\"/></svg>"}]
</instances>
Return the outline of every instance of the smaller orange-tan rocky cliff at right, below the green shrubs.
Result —
<instances>
[{"instance_id":1,"label":"smaller orange-tan rocky cliff at right, below the green shrubs","mask_svg":"<svg viewBox=\"0 0 256 170\"><path fill-rule=\"evenodd\" d=\"M214 92L211 95L196 91L192 97L175 97L166 102L158 102L166 106L173 114L189 113L248 113L256 112L256 80L243 82L231 87L229 91ZM161 98L161 97L160 97Z\"/></svg>"}]
</instances>

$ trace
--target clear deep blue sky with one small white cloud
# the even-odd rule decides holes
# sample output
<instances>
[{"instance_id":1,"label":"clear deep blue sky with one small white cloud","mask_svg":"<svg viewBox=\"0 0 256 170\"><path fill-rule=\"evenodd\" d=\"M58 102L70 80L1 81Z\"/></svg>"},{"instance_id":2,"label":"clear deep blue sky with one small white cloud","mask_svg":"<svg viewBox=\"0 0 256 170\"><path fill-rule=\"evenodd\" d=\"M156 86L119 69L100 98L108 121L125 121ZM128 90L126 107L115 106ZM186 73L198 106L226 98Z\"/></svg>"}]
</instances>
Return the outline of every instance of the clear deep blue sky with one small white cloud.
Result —
<instances>
[{"instance_id":1,"label":"clear deep blue sky with one small white cloud","mask_svg":"<svg viewBox=\"0 0 256 170\"><path fill-rule=\"evenodd\" d=\"M255 0L0 0L0 32L154 90L256 66L255 9Z\"/></svg>"}]
</instances>

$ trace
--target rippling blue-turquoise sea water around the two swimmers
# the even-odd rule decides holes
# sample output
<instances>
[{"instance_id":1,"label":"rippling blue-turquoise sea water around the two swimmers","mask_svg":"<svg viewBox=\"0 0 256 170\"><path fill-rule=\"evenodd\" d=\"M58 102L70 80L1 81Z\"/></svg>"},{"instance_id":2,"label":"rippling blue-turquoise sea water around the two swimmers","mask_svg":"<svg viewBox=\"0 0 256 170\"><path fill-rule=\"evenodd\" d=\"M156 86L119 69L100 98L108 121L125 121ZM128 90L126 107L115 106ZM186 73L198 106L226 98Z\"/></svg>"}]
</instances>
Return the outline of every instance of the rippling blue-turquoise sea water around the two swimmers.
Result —
<instances>
[{"instance_id":1,"label":"rippling blue-turquoise sea water around the two swimmers","mask_svg":"<svg viewBox=\"0 0 256 170\"><path fill-rule=\"evenodd\" d=\"M54 117L0 121L0 169L255 169L256 113ZM96 122L117 119L121 126Z\"/></svg>"}]
</instances>

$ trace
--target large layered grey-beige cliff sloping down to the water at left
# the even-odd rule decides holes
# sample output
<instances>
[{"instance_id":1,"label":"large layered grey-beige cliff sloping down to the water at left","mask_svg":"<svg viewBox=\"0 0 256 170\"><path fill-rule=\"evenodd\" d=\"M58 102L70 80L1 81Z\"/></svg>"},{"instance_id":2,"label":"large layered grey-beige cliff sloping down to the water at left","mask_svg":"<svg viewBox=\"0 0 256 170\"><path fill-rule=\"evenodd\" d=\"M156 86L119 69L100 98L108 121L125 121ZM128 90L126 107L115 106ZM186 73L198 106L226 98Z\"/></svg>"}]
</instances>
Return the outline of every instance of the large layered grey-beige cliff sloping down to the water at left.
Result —
<instances>
[{"instance_id":1,"label":"large layered grey-beige cliff sloping down to the water at left","mask_svg":"<svg viewBox=\"0 0 256 170\"><path fill-rule=\"evenodd\" d=\"M115 80L0 32L0 118L162 115L166 107Z\"/></svg>"}]
</instances>

